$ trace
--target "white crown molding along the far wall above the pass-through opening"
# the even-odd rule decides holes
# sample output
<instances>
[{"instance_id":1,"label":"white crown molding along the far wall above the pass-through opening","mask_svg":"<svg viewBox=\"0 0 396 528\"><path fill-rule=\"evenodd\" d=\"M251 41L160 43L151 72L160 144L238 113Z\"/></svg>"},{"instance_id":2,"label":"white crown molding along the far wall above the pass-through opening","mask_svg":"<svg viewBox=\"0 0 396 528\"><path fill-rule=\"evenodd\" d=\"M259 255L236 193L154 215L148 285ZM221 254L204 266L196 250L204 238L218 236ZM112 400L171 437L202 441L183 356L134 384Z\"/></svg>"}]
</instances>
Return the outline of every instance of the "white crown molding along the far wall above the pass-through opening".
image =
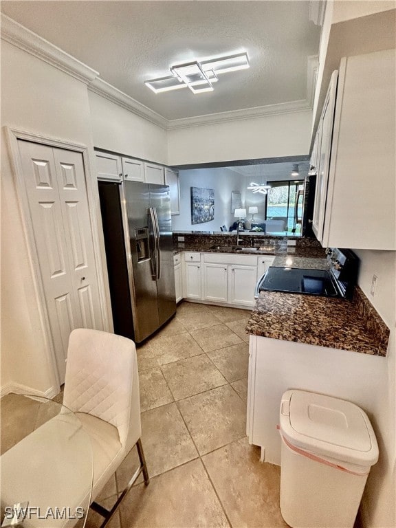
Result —
<instances>
[{"instance_id":1,"label":"white crown molding along the far wall above the pass-through opening","mask_svg":"<svg viewBox=\"0 0 396 528\"><path fill-rule=\"evenodd\" d=\"M168 122L168 130L184 129L187 126L201 126L203 124L217 124L227 121L262 118L267 115L294 113L310 110L312 107L306 99L279 104L267 104L264 107L243 108L221 113L197 115L193 118L173 119Z\"/></svg>"}]
</instances>

